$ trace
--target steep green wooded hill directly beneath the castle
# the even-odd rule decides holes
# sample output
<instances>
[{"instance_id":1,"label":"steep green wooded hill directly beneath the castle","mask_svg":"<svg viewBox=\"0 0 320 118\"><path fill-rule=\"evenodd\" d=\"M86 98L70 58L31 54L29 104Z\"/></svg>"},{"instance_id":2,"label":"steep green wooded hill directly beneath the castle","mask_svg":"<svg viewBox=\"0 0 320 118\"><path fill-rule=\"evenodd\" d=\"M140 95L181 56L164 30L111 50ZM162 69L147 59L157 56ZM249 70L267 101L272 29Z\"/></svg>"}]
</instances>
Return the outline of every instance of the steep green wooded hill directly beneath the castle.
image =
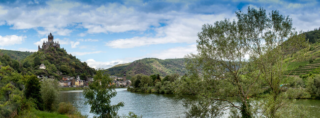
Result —
<instances>
[{"instance_id":1,"label":"steep green wooded hill directly beneath the castle","mask_svg":"<svg viewBox=\"0 0 320 118\"><path fill-rule=\"evenodd\" d=\"M64 49L59 48L35 52L23 59L21 63L23 74L54 76L58 79L64 75L71 77L79 75L81 79L86 79L92 77L96 71L86 62L81 62L75 56L67 54ZM41 63L46 66L46 69L39 69Z\"/></svg>"}]
</instances>

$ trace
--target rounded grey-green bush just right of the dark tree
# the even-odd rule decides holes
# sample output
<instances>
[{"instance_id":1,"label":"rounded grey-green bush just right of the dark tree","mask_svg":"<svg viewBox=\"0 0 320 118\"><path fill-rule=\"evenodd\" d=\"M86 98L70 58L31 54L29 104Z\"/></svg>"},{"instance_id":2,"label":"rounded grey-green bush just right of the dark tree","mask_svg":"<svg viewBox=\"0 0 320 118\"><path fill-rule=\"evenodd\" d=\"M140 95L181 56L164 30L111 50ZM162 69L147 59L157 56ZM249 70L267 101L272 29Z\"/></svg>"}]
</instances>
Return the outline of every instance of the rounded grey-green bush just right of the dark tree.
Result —
<instances>
[{"instance_id":1,"label":"rounded grey-green bush just right of the dark tree","mask_svg":"<svg viewBox=\"0 0 320 118\"><path fill-rule=\"evenodd\" d=\"M41 84L41 97L43 101L43 109L45 111L54 111L59 102L59 85L56 80L51 81L44 79Z\"/></svg>"}]
</instances>

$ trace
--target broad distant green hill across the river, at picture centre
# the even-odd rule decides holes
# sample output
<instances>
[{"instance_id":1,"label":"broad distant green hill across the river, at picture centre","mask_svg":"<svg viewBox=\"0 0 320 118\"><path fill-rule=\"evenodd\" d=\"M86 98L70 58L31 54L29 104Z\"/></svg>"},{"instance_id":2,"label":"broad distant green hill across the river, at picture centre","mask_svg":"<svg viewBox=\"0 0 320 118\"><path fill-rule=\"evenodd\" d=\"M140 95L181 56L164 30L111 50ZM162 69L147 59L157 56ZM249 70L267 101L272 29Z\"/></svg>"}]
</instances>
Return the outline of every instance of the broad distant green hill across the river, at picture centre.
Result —
<instances>
[{"instance_id":1,"label":"broad distant green hill across the river, at picture centre","mask_svg":"<svg viewBox=\"0 0 320 118\"><path fill-rule=\"evenodd\" d=\"M123 76L124 72L127 74L127 78L136 74L154 75L160 74L160 76L166 76L173 73L184 75L186 73L185 59L156 59L145 58L135 60L126 64L115 65L106 69L110 75Z\"/></svg>"}]
</instances>

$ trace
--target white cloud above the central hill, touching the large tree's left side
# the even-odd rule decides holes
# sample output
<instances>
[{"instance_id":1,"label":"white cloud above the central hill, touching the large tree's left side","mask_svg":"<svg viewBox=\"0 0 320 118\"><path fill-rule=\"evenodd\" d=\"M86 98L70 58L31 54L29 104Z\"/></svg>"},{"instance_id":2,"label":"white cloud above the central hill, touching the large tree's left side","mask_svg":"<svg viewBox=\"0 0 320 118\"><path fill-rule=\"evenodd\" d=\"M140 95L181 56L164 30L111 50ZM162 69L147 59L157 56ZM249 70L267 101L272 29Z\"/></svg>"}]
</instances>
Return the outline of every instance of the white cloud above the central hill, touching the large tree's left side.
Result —
<instances>
[{"instance_id":1,"label":"white cloud above the central hill, touching the large tree's left side","mask_svg":"<svg viewBox=\"0 0 320 118\"><path fill-rule=\"evenodd\" d=\"M189 45L187 47L175 47L168 50L161 51L160 53L152 55L152 57L158 59L175 59L184 58L187 54L197 54L196 44Z\"/></svg>"}]
</instances>

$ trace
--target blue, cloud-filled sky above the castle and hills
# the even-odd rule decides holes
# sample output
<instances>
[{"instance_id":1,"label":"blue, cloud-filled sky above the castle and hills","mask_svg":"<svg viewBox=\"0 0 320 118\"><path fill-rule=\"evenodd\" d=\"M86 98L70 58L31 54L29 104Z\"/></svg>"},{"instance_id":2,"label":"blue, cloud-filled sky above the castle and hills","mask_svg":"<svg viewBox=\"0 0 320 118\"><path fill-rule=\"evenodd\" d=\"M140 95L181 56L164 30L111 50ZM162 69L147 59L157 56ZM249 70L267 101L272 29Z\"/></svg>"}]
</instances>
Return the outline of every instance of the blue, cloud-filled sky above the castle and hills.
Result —
<instances>
[{"instance_id":1,"label":"blue, cloud-filled sky above the castle and hills","mask_svg":"<svg viewBox=\"0 0 320 118\"><path fill-rule=\"evenodd\" d=\"M0 0L0 49L35 52L54 41L94 68L143 58L196 54L204 24L263 7L292 18L297 31L320 28L319 0Z\"/></svg>"}]
</instances>

